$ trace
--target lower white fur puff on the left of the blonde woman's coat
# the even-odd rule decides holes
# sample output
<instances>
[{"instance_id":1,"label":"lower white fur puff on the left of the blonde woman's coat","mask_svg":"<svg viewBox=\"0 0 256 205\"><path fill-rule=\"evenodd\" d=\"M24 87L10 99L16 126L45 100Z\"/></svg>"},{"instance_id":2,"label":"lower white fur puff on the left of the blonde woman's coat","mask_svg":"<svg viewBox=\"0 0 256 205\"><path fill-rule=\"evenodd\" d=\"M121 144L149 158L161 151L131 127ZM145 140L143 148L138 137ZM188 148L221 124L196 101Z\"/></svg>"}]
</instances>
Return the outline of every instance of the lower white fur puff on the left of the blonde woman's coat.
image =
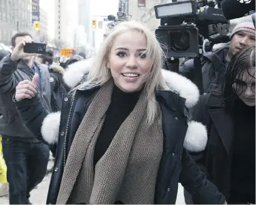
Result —
<instances>
[{"instance_id":1,"label":"lower white fur puff on the left of the blonde woman's coat","mask_svg":"<svg viewBox=\"0 0 256 205\"><path fill-rule=\"evenodd\" d=\"M60 129L60 112L48 114L43 120L41 134L43 139L54 144L58 142L58 131Z\"/></svg>"}]
</instances>

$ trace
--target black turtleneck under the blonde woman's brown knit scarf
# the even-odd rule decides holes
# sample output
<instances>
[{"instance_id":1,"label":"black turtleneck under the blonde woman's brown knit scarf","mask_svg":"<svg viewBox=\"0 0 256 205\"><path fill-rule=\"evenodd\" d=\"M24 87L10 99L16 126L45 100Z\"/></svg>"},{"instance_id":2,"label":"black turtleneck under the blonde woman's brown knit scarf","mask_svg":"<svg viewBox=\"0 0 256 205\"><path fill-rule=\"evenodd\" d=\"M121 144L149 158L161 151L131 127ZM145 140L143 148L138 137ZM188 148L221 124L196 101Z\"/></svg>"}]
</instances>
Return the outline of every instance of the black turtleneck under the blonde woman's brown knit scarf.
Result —
<instances>
[{"instance_id":1,"label":"black turtleneck under the blonde woman's brown knit scarf","mask_svg":"<svg viewBox=\"0 0 256 205\"><path fill-rule=\"evenodd\" d=\"M105 121L94 149L94 167L107 151L121 124L134 109L140 95L141 91L125 93L114 85L111 104L106 112Z\"/></svg>"}]
</instances>

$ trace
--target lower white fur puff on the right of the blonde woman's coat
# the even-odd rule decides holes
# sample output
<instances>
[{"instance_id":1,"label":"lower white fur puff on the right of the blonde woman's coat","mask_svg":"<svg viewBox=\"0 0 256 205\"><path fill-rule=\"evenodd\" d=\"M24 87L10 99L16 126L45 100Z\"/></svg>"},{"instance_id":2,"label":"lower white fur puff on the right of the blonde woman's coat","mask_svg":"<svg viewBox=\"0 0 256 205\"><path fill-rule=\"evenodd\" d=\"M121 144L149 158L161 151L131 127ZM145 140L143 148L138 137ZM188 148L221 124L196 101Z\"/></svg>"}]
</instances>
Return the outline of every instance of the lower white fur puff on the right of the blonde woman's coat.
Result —
<instances>
[{"instance_id":1,"label":"lower white fur puff on the right of the blonde woman's coat","mask_svg":"<svg viewBox=\"0 0 256 205\"><path fill-rule=\"evenodd\" d=\"M190 121L187 125L184 147L191 152L201 152L205 149L207 144L208 137L206 127L196 121Z\"/></svg>"}]
</instances>

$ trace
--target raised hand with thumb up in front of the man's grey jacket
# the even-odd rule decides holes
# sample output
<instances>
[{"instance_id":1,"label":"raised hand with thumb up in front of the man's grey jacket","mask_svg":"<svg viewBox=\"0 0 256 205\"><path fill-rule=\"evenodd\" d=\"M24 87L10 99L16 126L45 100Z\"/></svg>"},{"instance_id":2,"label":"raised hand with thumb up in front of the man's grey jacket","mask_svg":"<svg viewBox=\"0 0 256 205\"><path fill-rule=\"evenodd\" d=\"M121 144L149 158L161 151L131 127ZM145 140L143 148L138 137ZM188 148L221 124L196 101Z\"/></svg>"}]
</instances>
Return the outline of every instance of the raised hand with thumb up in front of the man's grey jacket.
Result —
<instances>
[{"instance_id":1,"label":"raised hand with thumb up in front of the man's grey jacket","mask_svg":"<svg viewBox=\"0 0 256 205\"><path fill-rule=\"evenodd\" d=\"M35 97L37 93L37 81L38 81L38 74L33 76L32 82L29 80L20 81L16 87L15 99L16 101L21 101L22 99L31 99Z\"/></svg>"}]
</instances>

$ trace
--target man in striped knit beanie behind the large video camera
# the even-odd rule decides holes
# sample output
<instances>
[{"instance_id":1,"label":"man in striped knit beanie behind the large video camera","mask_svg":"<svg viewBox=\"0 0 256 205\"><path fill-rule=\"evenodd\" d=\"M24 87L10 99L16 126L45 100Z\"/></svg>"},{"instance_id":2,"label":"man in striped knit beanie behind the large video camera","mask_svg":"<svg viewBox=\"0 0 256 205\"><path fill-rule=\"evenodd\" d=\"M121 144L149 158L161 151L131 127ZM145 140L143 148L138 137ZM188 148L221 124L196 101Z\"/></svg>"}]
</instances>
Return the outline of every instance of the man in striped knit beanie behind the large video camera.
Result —
<instances>
[{"instance_id":1,"label":"man in striped knit beanie behind the large video camera","mask_svg":"<svg viewBox=\"0 0 256 205\"><path fill-rule=\"evenodd\" d=\"M224 47L202 56L202 81L204 93L208 93L211 85L219 85L232 56L247 46L255 45L255 27L253 22L240 22L232 30L230 43ZM194 82L193 59L183 62L179 72Z\"/></svg>"}]
</instances>

